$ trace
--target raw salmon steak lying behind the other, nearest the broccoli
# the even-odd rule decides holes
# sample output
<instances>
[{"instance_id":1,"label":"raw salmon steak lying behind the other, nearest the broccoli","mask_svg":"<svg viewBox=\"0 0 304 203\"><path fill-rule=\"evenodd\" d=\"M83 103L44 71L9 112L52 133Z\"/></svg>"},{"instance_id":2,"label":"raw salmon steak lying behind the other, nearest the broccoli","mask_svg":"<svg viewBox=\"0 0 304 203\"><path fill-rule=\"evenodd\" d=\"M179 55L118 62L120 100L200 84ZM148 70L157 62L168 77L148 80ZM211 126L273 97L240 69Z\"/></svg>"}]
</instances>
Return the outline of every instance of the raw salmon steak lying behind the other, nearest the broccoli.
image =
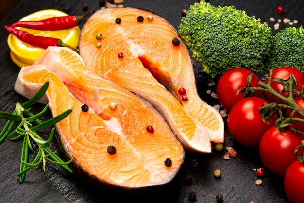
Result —
<instances>
[{"instance_id":1,"label":"raw salmon steak lying behind the other, nearest the broccoli","mask_svg":"<svg viewBox=\"0 0 304 203\"><path fill-rule=\"evenodd\" d=\"M224 142L220 113L197 93L185 42L165 19L137 8L96 11L79 43L84 63L157 109L186 150L209 153Z\"/></svg>"}]
</instances>

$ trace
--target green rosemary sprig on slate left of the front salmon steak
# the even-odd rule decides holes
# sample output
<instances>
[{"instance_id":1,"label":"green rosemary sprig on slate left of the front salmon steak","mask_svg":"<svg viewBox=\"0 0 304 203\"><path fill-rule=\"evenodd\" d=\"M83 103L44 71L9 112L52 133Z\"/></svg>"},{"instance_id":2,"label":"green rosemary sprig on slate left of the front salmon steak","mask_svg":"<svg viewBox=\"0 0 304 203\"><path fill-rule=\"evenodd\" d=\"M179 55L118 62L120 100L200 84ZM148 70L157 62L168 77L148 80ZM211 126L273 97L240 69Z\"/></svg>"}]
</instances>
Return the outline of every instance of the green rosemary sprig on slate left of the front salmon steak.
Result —
<instances>
[{"instance_id":1,"label":"green rosemary sprig on slate left of the front salmon steak","mask_svg":"<svg viewBox=\"0 0 304 203\"><path fill-rule=\"evenodd\" d=\"M68 166L68 164L70 164L73 159L69 160L68 162L64 162L48 147L55 134L55 128L52 126L62 119L66 118L72 112L72 109L68 109L67 111L45 122L41 122L39 118L49 109L49 105L46 105L41 112L35 115L30 111L31 108L26 108L39 101L46 93L48 87L49 82L47 81L31 99L24 103L16 103L16 107L13 113L0 112L0 118L7 120L6 125L0 133L0 144L7 137L11 137L15 134L17 135L10 138L10 141L23 138L20 167L19 173L17 174L17 176L19 176L20 183L24 181L26 172L38 166L41 162L43 165L43 170L45 171L47 160L54 164L61 165L64 169L68 170L68 172L73 172L72 169ZM16 128L13 130L14 126L16 126ZM52 129L47 140L44 140L37 134L37 131L50 127L52 127ZM39 151L37 152L36 157L32 163L28 163L29 150L33 151L33 143L38 146Z\"/></svg>"}]
</instances>

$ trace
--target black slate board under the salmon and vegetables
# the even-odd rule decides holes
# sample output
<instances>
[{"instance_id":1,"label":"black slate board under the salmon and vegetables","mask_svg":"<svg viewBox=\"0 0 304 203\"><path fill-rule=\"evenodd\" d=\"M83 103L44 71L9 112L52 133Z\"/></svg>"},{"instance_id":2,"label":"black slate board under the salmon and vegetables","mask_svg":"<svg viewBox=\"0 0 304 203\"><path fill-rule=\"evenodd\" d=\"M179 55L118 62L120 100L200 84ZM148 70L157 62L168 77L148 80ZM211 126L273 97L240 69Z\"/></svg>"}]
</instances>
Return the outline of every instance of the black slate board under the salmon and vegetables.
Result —
<instances>
[{"instance_id":1,"label":"black slate board under the salmon and vegetables","mask_svg":"<svg viewBox=\"0 0 304 203\"><path fill-rule=\"evenodd\" d=\"M196 0L125 0L124 6L138 7L152 10L167 19L176 29L180 24L181 10L188 9ZM9 47L6 43L8 33L3 25L10 25L20 18L42 9L59 9L68 14L82 15L82 5L88 4L89 10L100 8L98 0L20 0L13 10L0 22L0 111L11 112L16 102L25 101L25 98L14 92L14 83L19 68L9 57ZM235 5L237 9L245 10L249 16L254 15L261 21L268 22L270 27L276 22L271 22L270 17L277 19L289 18L298 20L294 25L299 27L304 23L303 1L297 0L210 0L215 6ZM282 5L285 8L284 15L276 13L276 7ZM81 24L81 27L83 23ZM290 25L281 23L280 28ZM273 30L275 33L276 31ZM195 69L200 68L195 64ZM210 105L218 104L207 94L215 86L209 87L208 77L197 72L197 86L202 99ZM42 105L35 105L37 110ZM48 113L44 118L50 117ZM227 117L226 117L227 118ZM226 118L224 120L226 121ZM0 129L4 126L4 120L0 120ZM226 126L227 129L227 126ZM45 132L47 134L48 132ZM284 192L283 178L266 171L262 178L262 185L255 185L258 179L253 169L263 167L259 158L258 149L248 149L236 143L226 132L225 146L232 146L237 152L237 157L230 160L223 159L225 150L212 154L195 154L186 152L185 162L171 184L152 194L145 195L113 195L106 190L97 191L95 188L85 185L75 174L69 174L61 167L47 163L47 170L43 172L41 166L30 170L23 184L18 183L16 176L20 160L21 141L4 141L0 145L0 202L61 202L61 203L123 203L123 202L170 202L187 203L188 194L196 192L197 203L216 202L216 195L223 194L224 202L229 203L283 203L288 202ZM61 154L56 140L50 148L57 154ZM198 166L195 164L198 163ZM194 167L194 165L196 167ZM215 169L222 171L222 176L216 179L213 176ZM193 182L185 184L185 176L192 175Z\"/></svg>"}]
</instances>

